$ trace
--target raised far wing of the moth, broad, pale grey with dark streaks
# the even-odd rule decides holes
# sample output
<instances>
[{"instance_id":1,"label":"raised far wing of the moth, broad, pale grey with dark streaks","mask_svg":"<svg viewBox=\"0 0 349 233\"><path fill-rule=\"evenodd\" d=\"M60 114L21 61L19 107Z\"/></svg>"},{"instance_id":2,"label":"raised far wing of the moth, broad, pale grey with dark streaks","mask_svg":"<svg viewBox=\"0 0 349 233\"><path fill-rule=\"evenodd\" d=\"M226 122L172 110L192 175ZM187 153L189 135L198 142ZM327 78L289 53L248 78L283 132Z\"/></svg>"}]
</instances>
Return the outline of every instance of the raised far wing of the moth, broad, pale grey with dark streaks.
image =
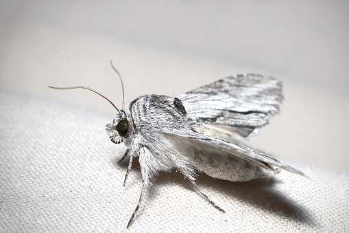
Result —
<instances>
[{"instance_id":1,"label":"raised far wing of the moth, broad, pale grey with dark streaks","mask_svg":"<svg viewBox=\"0 0 349 233\"><path fill-rule=\"evenodd\" d=\"M259 129L278 113L282 83L260 74L238 74L177 96L191 118L242 137Z\"/></svg>"}]
</instances>

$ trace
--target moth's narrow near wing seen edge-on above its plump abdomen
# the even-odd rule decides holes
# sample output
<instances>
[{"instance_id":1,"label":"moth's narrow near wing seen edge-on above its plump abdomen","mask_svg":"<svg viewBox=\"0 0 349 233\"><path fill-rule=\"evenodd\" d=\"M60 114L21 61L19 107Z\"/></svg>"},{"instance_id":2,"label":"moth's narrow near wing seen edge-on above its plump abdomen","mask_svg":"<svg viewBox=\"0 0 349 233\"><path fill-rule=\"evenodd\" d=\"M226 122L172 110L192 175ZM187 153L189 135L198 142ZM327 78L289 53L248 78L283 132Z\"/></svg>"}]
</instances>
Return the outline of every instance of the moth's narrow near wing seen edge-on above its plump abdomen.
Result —
<instances>
[{"instance_id":1,"label":"moth's narrow near wing seen edge-on above its plump abdomen","mask_svg":"<svg viewBox=\"0 0 349 233\"><path fill-rule=\"evenodd\" d=\"M254 151L254 149L249 148L247 146L243 146L241 144L234 144L230 142L225 142L223 140L219 140L215 137L209 137L207 135L202 135L201 133L197 133L195 131L191 131L189 129L169 129L169 128L161 128L159 129L162 133L167 133L169 135L176 135L180 137L186 137L191 140L195 140L196 142L201 142L204 144L209 144L217 148L217 150L224 150L227 153L235 155L237 157L241 157L242 159L248 160L249 162L253 162L258 164L259 166L268 169L274 170L272 166L276 166L278 168L283 168L285 170L289 170L291 173L296 173L298 175L304 175L300 170L288 166L286 164L282 164L277 159L272 157L271 155L266 155L264 153Z\"/></svg>"}]
</instances>

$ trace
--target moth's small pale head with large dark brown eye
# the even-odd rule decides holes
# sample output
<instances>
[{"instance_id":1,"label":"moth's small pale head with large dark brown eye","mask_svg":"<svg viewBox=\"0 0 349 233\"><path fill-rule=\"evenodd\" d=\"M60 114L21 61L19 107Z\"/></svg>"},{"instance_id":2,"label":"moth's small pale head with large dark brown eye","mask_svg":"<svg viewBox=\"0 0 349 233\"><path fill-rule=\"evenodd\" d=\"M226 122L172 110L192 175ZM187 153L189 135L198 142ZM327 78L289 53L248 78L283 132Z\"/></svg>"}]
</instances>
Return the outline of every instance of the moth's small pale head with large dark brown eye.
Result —
<instances>
[{"instance_id":1,"label":"moth's small pale head with large dark brown eye","mask_svg":"<svg viewBox=\"0 0 349 233\"><path fill-rule=\"evenodd\" d=\"M121 109L120 113L114 116L112 124L106 124L106 131L110 140L115 144L123 142L131 129L128 113Z\"/></svg>"}]
</instances>

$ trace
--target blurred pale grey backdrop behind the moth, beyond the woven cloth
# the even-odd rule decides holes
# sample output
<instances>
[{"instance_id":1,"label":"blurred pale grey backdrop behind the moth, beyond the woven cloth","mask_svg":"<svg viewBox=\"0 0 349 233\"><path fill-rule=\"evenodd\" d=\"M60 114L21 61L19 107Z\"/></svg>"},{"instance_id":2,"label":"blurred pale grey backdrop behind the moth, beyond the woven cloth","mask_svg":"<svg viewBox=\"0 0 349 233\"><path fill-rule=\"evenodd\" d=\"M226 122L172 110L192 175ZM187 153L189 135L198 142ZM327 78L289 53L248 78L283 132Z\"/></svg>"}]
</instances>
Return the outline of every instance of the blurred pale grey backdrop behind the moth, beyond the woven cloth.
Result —
<instances>
[{"instance_id":1,"label":"blurred pale grey backdrop behind the moth, beyond the woven cloth","mask_svg":"<svg viewBox=\"0 0 349 233\"><path fill-rule=\"evenodd\" d=\"M241 72L276 76L281 114L251 144L348 172L348 23L349 1L1 1L0 87L112 120L94 93L47 85L93 87L121 107L109 60L123 76L126 106Z\"/></svg>"}]
</instances>

